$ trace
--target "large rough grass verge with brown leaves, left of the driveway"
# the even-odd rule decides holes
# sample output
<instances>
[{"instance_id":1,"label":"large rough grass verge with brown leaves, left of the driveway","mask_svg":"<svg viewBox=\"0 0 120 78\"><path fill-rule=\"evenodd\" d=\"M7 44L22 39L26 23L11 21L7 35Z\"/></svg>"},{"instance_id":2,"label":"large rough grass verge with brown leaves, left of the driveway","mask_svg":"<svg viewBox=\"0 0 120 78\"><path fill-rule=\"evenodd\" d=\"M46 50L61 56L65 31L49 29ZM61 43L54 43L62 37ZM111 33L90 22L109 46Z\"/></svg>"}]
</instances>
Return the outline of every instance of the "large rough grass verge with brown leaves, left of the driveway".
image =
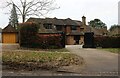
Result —
<instances>
[{"instance_id":1,"label":"large rough grass verge with brown leaves, left of the driveway","mask_svg":"<svg viewBox=\"0 0 120 78\"><path fill-rule=\"evenodd\" d=\"M54 69L61 66L82 65L82 57L69 52L3 52L3 65L12 69Z\"/></svg>"}]
</instances>

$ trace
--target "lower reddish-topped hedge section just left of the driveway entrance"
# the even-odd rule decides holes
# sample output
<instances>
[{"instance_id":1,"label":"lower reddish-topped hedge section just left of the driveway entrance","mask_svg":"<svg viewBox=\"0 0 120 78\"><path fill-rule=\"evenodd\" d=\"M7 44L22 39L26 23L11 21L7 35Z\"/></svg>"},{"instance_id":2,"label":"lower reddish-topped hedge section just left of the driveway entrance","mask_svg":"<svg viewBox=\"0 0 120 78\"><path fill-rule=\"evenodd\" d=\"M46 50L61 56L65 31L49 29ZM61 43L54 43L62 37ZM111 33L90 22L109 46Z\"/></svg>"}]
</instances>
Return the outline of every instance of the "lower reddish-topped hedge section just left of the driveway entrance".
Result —
<instances>
[{"instance_id":1,"label":"lower reddish-topped hedge section just left of the driveway entrance","mask_svg":"<svg viewBox=\"0 0 120 78\"><path fill-rule=\"evenodd\" d=\"M42 49L62 48L61 34L37 34L37 36L36 45Z\"/></svg>"}]
</instances>

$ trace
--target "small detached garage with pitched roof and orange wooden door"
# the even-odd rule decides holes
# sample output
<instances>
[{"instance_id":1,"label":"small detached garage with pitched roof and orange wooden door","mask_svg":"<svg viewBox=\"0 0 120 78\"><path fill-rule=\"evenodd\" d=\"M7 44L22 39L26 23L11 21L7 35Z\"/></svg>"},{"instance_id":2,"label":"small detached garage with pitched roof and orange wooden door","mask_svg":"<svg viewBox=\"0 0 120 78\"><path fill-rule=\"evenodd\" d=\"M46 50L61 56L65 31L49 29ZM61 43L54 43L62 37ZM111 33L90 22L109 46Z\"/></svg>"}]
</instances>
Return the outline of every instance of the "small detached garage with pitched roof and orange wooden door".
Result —
<instances>
[{"instance_id":1,"label":"small detached garage with pitched roof and orange wooden door","mask_svg":"<svg viewBox=\"0 0 120 78\"><path fill-rule=\"evenodd\" d=\"M18 42L18 31L8 24L2 30L2 43L17 43Z\"/></svg>"}]
</instances>

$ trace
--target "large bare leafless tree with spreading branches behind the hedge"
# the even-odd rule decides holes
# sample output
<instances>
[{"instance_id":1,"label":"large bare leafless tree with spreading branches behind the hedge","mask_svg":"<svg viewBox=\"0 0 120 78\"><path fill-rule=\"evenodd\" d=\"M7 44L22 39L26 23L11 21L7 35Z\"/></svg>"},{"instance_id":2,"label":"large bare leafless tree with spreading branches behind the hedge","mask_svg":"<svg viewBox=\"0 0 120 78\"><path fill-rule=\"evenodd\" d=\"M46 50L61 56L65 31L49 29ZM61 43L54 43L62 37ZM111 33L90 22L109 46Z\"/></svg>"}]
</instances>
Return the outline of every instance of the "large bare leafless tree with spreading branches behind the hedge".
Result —
<instances>
[{"instance_id":1,"label":"large bare leafless tree with spreading branches behind the hedge","mask_svg":"<svg viewBox=\"0 0 120 78\"><path fill-rule=\"evenodd\" d=\"M53 6L54 0L18 0L19 4L16 4L14 1L7 2L7 7L12 4L15 5L18 15L22 17L22 22L25 22L27 16L43 16L50 12L51 10L57 9Z\"/></svg>"}]
</instances>

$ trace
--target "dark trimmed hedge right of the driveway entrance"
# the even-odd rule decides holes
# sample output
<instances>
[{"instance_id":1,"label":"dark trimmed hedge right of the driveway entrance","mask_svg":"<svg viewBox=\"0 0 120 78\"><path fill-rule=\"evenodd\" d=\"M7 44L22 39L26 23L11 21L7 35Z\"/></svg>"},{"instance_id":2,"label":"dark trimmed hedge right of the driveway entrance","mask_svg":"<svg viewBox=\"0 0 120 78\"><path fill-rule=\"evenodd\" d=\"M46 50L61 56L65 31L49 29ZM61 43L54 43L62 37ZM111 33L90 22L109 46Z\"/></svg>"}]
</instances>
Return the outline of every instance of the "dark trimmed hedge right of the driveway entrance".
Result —
<instances>
[{"instance_id":1,"label":"dark trimmed hedge right of the driveway entrance","mask_svg":"<svg viewBox=\"0 0 120 78\"><path fill-rule=\"evenodd\" d=\"M99 36L94 37L96 47L102 48L120 48L120 37Z\"/></svg>"}]
</instances>

